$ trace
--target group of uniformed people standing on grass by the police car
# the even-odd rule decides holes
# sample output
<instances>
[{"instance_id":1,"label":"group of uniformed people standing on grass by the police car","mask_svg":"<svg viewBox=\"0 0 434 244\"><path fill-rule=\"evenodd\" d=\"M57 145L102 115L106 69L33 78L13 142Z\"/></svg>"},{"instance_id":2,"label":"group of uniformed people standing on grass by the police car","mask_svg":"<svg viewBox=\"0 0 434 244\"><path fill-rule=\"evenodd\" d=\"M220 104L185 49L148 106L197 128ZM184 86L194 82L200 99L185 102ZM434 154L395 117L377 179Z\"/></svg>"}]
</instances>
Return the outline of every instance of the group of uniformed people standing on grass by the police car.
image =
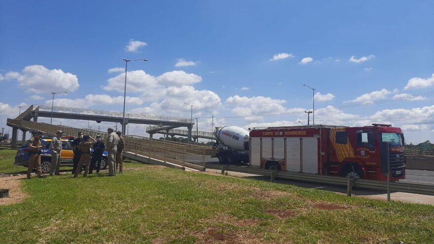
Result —
<instances>
[{"instance_id":1,"label":"group of uniformed people standing on grass by the police car","mask_svg":"<svg viewBox=\"0 0 434 244\"><path fill-rule=\"evenodd\" d=\"M125 149L125 140L122 137L122 132L114 132L113 128L108 128L106 142L104 142L100 135L96 139L90 135L83 135L83 132L78 132L78 137L72 141L74 157L72 160L72 174L74 178L78 176L84 165L83 176L91 174L93 170L100 172L101 162L103 160L103 153L105 150L108 152L108 166L109 176L116 175L117 170L123 173L123 152ZM33 167L36 167L36 174L42 177L40 166L40 149L42 148L41 137L43 133L37 132L34 137L30 139L29 144L29 164L27 169L27 178L31 178ZM58 130L56 136L52 138L49 148L51 150L51 166L50 175L59 175L61 152L62 152L62 135L63 131ZM91 149L93 148L93 150Z\"/></svg>"}]
</instances>

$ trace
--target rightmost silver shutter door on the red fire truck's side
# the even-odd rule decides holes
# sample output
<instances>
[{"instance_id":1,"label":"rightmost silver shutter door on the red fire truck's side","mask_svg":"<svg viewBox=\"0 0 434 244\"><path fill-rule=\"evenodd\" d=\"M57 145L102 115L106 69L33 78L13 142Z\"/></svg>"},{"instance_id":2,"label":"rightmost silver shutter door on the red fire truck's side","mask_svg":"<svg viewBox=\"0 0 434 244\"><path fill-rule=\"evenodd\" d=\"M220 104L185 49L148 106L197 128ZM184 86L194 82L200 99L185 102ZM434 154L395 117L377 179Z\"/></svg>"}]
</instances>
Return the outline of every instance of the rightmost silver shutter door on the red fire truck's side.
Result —
<instances>
[{"instance_id":1,"label":"rightmost silver shutter door on the red fire truck's side","mask_svg":"<svg viewBox=\"0 0 434 244\"><path fill-rule=\"evenodd\" d=\"M318 173L318 140L317 137L304 137L303 143L303 173Z\"/></svg>"}]
</instances>

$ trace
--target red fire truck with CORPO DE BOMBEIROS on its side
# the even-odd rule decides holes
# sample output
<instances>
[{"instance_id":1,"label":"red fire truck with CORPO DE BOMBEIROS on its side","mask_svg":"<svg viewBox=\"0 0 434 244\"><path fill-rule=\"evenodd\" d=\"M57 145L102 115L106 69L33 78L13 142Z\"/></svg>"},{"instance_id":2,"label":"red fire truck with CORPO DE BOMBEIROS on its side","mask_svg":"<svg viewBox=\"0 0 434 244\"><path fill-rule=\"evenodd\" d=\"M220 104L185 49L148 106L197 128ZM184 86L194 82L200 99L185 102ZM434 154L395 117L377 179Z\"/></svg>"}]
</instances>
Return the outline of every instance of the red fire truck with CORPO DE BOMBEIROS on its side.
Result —
<instances>
[{"instance_id":1,"label":"red fire truck with CORPO DE BOMBEIROS on its side","mask_svg":"<svg viewBox=\"0 0 434 244\"><path fill-rule=\"evenodd\" d=\"M405 178L404 136L389 124L253 128L249 140L250 164L265 169L386 180L389 156L391 180Z\"/></svg>"}]
</instances>

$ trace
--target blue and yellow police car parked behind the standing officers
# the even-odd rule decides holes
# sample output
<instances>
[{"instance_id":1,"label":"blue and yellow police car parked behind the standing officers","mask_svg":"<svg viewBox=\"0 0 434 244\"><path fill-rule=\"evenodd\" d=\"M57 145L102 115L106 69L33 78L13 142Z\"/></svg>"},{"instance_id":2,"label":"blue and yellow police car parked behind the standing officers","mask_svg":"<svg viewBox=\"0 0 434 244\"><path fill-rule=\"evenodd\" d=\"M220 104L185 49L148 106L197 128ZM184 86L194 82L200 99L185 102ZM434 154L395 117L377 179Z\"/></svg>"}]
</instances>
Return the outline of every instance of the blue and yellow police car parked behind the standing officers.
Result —
<instances>
[{"instance_id":1,"label":"blue and yellow police car parked behind the standing officers","mask_svg":"<svg viewBox=\"0 0 434 244\"><path fill-rule=\"evenodd\" d=\"M50 172L51 166L51 150L49 149L52 137L42 137L41 138L41 169L42 173L47 174ZM74 153L72 152L72 139L62 138L62 153L60 155L60 166L72 166L72 159L74 158ZM15 156L15 165L21 165L27 167L29 164L29 141L23 144ZM101 161L100 169L107 168L107 155L105 151L103 153L103 159Z\"/></svg>"}]
</instances>

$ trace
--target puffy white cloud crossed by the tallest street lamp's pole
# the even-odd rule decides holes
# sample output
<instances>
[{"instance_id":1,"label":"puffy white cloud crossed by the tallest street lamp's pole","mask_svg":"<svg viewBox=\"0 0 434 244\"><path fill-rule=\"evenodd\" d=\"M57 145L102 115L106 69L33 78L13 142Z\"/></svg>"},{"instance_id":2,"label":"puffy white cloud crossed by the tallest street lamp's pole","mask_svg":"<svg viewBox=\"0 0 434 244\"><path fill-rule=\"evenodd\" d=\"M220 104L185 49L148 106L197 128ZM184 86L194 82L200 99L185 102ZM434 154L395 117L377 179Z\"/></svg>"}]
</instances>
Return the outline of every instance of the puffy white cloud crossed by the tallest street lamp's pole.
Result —
<instances>
[{"instance_id":1,"label":"puffy white cloud crossed by the tallest street lamp's pole","mask_svg":"<svg viewBox=\"0 0 434 244\"><path fill-rule=\"evenodd\" d=\"M125 85L125 74L119 74L108 80L104 90L123 92ZM155 77L146 74L143 70L127 72L127 92L145 92L148 89L155 89L158 83Z\"/></svg>"}]
</instances>

